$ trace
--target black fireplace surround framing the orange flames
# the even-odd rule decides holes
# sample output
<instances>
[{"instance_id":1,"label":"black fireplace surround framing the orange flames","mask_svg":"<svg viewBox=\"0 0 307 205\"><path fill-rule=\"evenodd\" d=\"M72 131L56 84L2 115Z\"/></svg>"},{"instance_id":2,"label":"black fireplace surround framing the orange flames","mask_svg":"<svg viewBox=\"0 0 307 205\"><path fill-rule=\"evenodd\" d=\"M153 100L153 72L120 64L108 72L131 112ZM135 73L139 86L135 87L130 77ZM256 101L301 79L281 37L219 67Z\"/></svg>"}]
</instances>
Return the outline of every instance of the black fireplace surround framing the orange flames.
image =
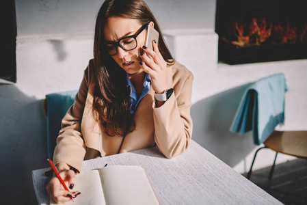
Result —
<instances>
[{"instance_id":1,"label":"black fireplace surround framing the orange flames","mask_svg":"<svg viewBox=\"0 0 307 205\"><path fill-rule=\"evenodd\" d=\"M291 3L287 5L287 3ZM270 20L291 20L307 25L304 0L217 0L215 32L219 35L219 61L226 64L248 64L265 61L307 59L307 43L238 46L223 40L231 20L265 16ZM306 33L307 35L307 33ZM307 36L306 36L307 37Z\"/></svg>"}]
</instances>

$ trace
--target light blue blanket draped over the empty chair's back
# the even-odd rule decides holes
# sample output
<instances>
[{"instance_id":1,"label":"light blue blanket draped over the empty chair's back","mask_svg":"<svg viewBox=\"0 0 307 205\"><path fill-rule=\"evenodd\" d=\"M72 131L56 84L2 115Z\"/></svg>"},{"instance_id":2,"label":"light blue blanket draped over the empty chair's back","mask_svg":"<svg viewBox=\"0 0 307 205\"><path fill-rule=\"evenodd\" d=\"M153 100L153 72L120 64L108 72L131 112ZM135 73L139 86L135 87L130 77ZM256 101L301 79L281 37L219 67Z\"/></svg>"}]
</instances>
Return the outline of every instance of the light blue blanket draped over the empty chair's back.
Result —
<instances>
[{"instance_id":1,"label":"light blue blanket draped over the empty chair's back","mask_svg":"<svg viewBox=\"0 0 307 205\"><path fill-rule=\"evenodd\" d=\"M284 122L286 91L282 73L252 83L243 94L230 131L240 134L252 131L254 143L263 143L275 127Z\"/></svg>"}]
</instances>

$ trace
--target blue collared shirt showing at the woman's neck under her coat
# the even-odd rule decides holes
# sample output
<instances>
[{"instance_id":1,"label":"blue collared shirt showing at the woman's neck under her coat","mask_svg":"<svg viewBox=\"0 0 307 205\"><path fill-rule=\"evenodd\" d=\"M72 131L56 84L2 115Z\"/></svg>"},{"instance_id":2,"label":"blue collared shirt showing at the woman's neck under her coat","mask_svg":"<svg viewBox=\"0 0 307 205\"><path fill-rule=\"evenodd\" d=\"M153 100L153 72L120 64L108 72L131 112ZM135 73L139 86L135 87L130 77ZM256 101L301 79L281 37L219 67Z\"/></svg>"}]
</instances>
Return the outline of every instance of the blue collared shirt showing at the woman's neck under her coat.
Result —
<instances>
[{"instance_id":1,"label":"blue collared shirt showing at the woman's neck under her coat","mask_svg":"<svg viewBox=\"0 0 307 205\"><path fill-rule=\"evenodd\" d=\"M146 74L146 77L143 83L144 89L142 91L142 94L137 99L137 92L135 91L135 87L133 86L133 84L131 83L129 79L129 74L127 73L126 76L127 76L127 87L130 86L130 100L131 100L130 113L133 114L135 112L135 109L137 109L137 105L139 105L139 101L141 101L142 98L144 98L144 96L148 94L150 84L151 84L151 79L150 79L150 75Z\"/></svg>"}]
</instances>

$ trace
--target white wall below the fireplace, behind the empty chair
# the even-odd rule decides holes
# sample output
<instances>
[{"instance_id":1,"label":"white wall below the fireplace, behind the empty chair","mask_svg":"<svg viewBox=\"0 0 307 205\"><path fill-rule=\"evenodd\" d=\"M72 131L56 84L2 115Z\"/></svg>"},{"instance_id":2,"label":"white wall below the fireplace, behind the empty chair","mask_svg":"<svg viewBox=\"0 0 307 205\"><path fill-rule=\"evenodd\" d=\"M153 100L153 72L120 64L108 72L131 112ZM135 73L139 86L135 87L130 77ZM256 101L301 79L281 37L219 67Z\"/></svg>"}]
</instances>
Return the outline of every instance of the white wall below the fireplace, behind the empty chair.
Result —
<instances>
[{"instance_id":1,"label":"white wall below the fireplace, behind the empty chair","mask_svg":"<svg viewBox=\"0 0 307 205\"><path fill-rule=\"evenodd\" d=\"M307 130L307 59L230 66L217 64L217 35L200 30L167 32L175 57L194 74L191 116L193 137L201 146L233 167L248 172L254 152L260 147L252 133L239 135L229 128L242 94L249 83L275 73L284 73L286 92L285 122L279 130ZM180 33L180 34L178 34ZM275 153L261 150L254 169L272 165ZM278 154L276 163L293 159Z\"/></svg>"}]
</instances>

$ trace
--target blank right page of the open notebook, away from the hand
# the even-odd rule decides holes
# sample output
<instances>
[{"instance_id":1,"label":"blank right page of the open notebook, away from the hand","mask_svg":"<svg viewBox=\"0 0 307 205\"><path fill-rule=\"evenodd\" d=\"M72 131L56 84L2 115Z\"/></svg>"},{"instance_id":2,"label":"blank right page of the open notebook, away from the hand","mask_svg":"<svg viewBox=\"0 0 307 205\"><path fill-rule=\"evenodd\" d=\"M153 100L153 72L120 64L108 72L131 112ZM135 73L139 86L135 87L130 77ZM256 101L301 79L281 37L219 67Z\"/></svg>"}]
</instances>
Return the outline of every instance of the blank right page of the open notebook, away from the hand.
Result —
<instances>
[{"instance_id":1,"label":"blank right page of the open notebook, away from the hand","mask_svg":"<svg viewBox=\"0 0 307 205\"><path fill-rule=\"evenodd\" d=\"M107 205L159 204L142 167L108 166L99 172Z\"/></svg>"}]
</instances>

